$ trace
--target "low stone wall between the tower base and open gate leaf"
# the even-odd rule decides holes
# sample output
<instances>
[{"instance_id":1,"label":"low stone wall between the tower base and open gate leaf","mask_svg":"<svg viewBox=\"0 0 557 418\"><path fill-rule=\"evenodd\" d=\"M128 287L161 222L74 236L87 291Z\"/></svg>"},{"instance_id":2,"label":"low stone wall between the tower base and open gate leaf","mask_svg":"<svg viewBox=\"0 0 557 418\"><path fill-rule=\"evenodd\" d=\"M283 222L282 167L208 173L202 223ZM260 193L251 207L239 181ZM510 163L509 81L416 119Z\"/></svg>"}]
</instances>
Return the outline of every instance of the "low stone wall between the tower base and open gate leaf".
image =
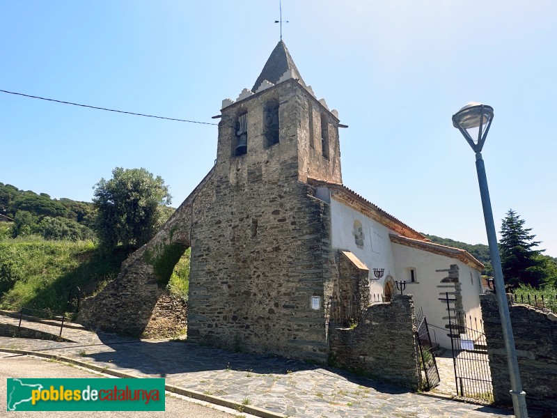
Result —
<instances>
[{"instance_id":1,"label":"low stone wall between the tower base and open gate leaf","mask_svg":"<svg viewBox=\"0 0 557 418\"><path fill-rule=\"evenodd\" d=\"M412 390L422 387L417 347L411 295L368 307L353 329L329 330L331 358L339 366Z\"/></svg>"}]
</instances>

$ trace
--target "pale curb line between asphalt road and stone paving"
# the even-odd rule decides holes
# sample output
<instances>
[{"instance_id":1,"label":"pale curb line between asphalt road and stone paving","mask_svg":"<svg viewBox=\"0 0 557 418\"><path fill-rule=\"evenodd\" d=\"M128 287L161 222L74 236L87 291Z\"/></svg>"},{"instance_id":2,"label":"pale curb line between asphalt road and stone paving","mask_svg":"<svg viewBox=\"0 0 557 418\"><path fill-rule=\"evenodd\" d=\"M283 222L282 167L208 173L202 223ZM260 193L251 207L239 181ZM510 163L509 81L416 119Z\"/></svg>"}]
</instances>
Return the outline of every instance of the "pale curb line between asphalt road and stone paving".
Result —
<instances>
[{"instance_id":1,"label":"pale curb line between asphalt road and stone paving","mask_svg":"<svg viewBox=\"0 0 557 418\"><path fill-rule=\"evenodd\" d=\"M123 373L121 371L107 369L105 367L95 366L95 364L90 364L86 362L80 362L79 360L72 359L70 357L64 357L62 355L54 355L54 354L47 354L47 353L38 353L36 351L30 350L18 350L15 348L0 348L0 352L3 353L12 353L12 354L21 354L21 355L33 355L35 357L42 357L45 359L53 359L57 360L58 362L65 362L69 364L74 364L75 366L84 367L85 369L91 369L97 371L99 373L108 374L111 376L115 376L116 378L136 378L142 379L143 376L137 376L133 373ZM205 401L208 403L212 403L214 405L224 406L226 408L230 408L233 410L237 410L238 412L245 412L246 414L256 415L257 417L261 418L287 418L286 415L279 414L278 412L272 412L269 410L265 410L263 408L258 408L253 405L244 405L243 403L229 401L228 399L221 398L219 396L213 395L206 395L202 394L201 392L196 392L191 389L184 389L183 387L178 387L175 385L164 385L164 389L168 392L172 392L174 394L187 396L188 398L194 398L198 401Z\"/></svg>"}]
</instances>

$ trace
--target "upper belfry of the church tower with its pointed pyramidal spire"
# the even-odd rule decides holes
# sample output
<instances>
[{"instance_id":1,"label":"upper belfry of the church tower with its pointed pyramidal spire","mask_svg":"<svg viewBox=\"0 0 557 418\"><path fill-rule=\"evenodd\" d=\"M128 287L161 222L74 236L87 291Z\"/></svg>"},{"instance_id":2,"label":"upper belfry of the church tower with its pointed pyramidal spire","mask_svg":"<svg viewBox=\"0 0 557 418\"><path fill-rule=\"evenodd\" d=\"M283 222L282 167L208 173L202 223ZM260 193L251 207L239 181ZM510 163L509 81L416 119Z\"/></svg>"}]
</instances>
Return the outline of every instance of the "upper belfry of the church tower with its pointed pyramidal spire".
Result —
<instances>
[{"instance_id":1,"label":"upper belfry of the church tower with its pointed pyramidal spire","mask_svg":"<svg viewBox=\"0 0 557 418\"><path fill-rule=\"evenodd\" d=\"M317 100L281 40L256 83L222 102L217 172L230 183L342 183L338 112Z\"/></svg>"}]
</instances>

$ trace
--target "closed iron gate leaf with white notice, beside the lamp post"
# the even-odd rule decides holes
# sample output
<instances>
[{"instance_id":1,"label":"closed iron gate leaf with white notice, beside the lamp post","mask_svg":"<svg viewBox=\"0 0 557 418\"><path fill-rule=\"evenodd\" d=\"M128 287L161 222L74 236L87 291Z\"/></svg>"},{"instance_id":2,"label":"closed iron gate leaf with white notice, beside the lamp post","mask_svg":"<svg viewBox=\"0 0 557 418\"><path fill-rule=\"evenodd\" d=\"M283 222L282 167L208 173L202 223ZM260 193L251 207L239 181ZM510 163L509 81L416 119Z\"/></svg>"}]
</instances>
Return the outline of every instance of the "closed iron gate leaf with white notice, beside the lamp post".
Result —
<instances>
[{"instance_id":1,"label":"closed iron gate leaf with white notice, beside the lamp post","mask_svg":"<svg viewBox=\"0 0 557 418\"><path fill-rule=\"evenodd\" d=\"M466 316L456 314L455 309L449 306L449 302L455 300L449 299L448 294L446 301L457 394L464 398L492 403L494 401L492 376L482 321L478 323L476 318L466 320Z\"/></svg>"}]
</instances>

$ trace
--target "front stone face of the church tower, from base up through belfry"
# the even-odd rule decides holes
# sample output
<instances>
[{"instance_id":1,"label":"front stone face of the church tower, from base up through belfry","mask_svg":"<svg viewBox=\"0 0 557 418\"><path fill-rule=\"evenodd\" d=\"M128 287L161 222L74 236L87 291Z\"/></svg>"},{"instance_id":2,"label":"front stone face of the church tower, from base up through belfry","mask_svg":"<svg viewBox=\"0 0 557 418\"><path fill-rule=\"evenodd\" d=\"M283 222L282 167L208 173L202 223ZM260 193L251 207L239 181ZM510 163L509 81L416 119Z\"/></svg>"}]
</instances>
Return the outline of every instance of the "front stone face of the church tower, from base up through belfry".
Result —
<instances>
[{"instance_id":1,"label":"front stone face of the church tower, from base up through belfry","mask_svg":"<svg viewBox=\"0 0 557 418\"><path fill-rule=\"evenodd\" d=\"M265 136L270 101L279 103L278 144ZM299 181L306 103L307 92L290 81L222 111L214 203L191 233L190 341L327 359L324 300L336 269L329 206ZM237 156L235 123L245 113L247 152ZM320 309L311 309L313 296Z\"/></svg>"}]
</instances>

